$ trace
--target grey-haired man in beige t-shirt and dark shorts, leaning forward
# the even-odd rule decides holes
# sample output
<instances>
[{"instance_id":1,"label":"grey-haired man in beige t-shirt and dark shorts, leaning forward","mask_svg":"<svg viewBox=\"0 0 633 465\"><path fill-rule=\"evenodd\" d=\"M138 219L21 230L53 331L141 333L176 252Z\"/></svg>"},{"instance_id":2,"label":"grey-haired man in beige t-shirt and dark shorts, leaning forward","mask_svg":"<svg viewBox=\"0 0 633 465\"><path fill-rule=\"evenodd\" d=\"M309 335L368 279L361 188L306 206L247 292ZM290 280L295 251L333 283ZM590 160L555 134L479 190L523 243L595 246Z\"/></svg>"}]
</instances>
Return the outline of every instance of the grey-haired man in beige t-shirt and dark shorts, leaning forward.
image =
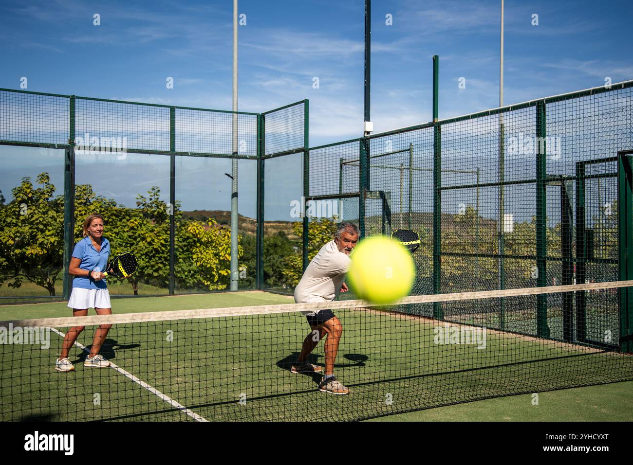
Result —
<instances>
[{"instance_id":1,"label":"grey-haired man in beige t-shirt and dark shorts, leaning forward","mask_svg":"<svg viewBox=\"0 0 633 465\"><path fill-rule=\"evenodd\" d=\"M352 223L341 223L334 234L334 240L321 247L318 254L310 261L299 285L294 290L294 301L331 302L339 292L346 292L348 287L343 282L349 268L349 253L356 246L360 230ZM330 309L305 312L312 332L303 341L301 353L292 365L292 373L320 373L321 367L308 363L308 354L318 342L325 340L325 375L318 385L321 392L330 394L349 394L349 389L339 383L334 376L334 360L341 340L341 321ZM318 333L318 335L317 335Z\"/></svg>"}]
</instances>

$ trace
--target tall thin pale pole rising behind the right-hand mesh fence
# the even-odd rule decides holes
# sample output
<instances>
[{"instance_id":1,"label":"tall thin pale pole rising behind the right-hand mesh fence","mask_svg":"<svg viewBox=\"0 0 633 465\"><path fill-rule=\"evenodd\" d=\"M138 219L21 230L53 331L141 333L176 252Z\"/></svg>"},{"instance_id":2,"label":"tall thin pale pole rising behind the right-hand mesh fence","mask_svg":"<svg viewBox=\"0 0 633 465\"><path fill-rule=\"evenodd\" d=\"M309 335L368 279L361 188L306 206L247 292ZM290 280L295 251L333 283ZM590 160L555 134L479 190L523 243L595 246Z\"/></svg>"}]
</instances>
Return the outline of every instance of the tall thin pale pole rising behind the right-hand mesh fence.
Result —
<instances>
[{"instance_id":1,"label":"tall thin pale pole rising behind the right-hand mesh fence","mask_svg":"<svg viewBox=\"0 0 633 465\"><path fill-rule=\"evenodd\" d=\"M503 106L503 0L501 0L501 47L499 50L499 107ZM505 129L503 127L503 113L499 113L499 289L505 289L505 270L503 254L505 253ZM499 302L499 323L501 329L505 327L504 299Z\"/></svg>"}]
</instances>

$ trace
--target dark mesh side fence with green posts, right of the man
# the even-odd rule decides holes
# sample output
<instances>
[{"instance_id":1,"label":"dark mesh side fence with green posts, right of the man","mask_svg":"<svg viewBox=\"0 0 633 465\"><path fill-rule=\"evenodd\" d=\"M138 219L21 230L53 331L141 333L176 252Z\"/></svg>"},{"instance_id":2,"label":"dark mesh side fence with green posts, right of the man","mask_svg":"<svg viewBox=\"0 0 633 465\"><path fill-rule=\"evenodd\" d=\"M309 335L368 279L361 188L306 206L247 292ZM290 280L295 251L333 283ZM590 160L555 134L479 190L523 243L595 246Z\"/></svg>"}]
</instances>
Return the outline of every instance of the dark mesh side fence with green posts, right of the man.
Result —
<instances>
[{"instance_id":1,"label":"dark mesh side fence with green posts, right of the man","mask_svg":"<svg viewBox=\"0 0 633 465\"><path fill-rule=\"evenodd\" d=\"M365 235L417 231L413 294L618 280L617 156L633 148L632 87L315 147L308 195L359 202L347 218ZM578 294L408 312L619 347L617 292Z\"/></svg>"}]
</instances>

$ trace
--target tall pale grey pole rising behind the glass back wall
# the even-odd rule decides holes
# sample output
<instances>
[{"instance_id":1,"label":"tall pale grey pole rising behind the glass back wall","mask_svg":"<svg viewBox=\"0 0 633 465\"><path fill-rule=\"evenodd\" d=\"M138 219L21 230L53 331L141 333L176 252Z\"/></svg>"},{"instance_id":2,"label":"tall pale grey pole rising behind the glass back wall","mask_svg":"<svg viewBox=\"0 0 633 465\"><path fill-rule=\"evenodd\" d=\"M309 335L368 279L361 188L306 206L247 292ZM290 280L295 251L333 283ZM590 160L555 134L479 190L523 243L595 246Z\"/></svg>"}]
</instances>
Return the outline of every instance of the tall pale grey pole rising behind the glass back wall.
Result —
<instances>
[{"instance_id":1,"label":"tall pale grey pole rising behind the glass back wall","mask_svg":"<svg viewBox=\"0 0 633 465\"><path fill-rule=\"evenodd\" d=\"M233 0L233 111L237 111L237 0ZM231 159L231 290L237 290L237 113L233 113L233 158Z\"/></svg>"}]
</instances>

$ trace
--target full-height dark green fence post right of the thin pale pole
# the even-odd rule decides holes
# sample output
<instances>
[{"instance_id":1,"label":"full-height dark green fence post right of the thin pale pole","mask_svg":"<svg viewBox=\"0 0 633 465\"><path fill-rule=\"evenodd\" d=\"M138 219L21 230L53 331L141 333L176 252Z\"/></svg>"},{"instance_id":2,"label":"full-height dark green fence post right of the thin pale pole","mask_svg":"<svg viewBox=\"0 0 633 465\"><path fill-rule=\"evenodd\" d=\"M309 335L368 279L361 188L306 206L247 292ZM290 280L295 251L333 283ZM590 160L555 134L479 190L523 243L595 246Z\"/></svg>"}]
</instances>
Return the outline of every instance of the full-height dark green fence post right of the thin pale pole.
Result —
<instances>
[{"instance_id":1,"label":"full-height dark green fence post right of the thin pale pole","mask_svg":"<svg viewBox=\"0 0 633 465\"><path fill-rule=\"evenodd\" d=\"M546 113L545 101L541 100L536 104L536 267L537 285L543 287L547 285L547 192L546 192ZM542 138L542 139L539 139ZM542 142L541 142L542 141ZM549 337L548 326L548 302L547 296L541 294L537 296L537 321L536 330L539 337Z\"/></svg>"}]
</instances>

